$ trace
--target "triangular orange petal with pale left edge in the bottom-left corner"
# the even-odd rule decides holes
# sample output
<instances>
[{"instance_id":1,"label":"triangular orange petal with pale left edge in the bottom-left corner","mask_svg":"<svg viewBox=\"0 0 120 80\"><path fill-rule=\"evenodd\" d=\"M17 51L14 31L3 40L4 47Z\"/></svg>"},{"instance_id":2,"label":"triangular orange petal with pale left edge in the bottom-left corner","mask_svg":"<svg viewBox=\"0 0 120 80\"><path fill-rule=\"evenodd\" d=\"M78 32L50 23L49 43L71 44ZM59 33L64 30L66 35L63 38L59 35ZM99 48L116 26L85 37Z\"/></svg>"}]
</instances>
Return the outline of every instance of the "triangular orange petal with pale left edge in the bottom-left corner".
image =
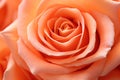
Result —
<instances>
[{"instance_id":1,"label":"triangular orange petal with pale left edge in the bottom-left corner","mask_svg":"<svg viewBox=\"0 0 120 80\"><path fill-rule=\"evenodd\" d=\"M7 69L4 73L3 80L32 80L29 76L25 76L25 71L22 71L10 56Z\"/></svg>"}]
</instances>

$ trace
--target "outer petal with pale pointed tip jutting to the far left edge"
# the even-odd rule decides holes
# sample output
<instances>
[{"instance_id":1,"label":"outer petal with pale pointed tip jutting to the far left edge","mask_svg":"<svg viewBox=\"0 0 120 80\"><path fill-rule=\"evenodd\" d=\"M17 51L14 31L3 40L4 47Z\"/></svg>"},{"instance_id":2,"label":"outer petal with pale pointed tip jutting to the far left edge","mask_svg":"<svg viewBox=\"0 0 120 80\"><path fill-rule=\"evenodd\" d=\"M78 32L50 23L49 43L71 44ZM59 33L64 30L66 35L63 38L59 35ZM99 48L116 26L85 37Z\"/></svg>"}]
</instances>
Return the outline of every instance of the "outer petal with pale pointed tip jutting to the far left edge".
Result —
<instances>
[{"instance_id":1,"label":"outer petal with pale pointed tip jutting to the far left edge","mask_svg":"<svg viewBox=\"0 0 120 80\"><path fill-rule=\"evenodd\" d=\"M21 57L18 55L18 49L17 49L18 35L17 35L17 31L16 31L17 30L16 26L17 26L17 20L14 21L10 26L8 26L0 34L4 37L17 64L21 67L24 67L26 70L28 70L28 67L26 67L26 64L21 59Z\"/></svg>"}]
</instances>

